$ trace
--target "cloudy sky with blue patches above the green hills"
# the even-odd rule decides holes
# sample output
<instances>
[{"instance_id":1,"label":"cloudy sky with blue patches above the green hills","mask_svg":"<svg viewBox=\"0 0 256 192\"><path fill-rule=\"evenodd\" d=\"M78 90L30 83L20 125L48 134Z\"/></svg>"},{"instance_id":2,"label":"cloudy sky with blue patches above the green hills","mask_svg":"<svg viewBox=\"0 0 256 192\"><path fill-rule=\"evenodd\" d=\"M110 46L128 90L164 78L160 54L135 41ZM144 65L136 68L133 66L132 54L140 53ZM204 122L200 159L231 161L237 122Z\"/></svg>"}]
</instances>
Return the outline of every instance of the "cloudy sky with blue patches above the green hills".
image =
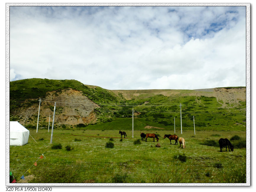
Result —
<instances>
[{"instance_id":1,"label":"cloudy sky with blue patches above the green hills","mask_svg":"<svg viewBox=\"0 0 256 192\"><path fill-rule=\"evenodd\" d=\"M245 6L11 6L10 81L246 86Z\"/></svg>"}]
</instances>

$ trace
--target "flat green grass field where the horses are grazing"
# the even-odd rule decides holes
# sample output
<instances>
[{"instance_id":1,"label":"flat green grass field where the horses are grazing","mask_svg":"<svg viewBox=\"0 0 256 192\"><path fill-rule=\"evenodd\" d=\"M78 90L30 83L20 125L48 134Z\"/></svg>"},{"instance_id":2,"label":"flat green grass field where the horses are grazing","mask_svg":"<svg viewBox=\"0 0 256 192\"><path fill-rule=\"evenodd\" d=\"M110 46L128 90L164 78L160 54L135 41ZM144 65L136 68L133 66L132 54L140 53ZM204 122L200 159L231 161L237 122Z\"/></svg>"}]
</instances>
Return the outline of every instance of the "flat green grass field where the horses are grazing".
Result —
<instances>
[{"instance_id":1,"label":"flat green grass field where the horses are grazing","mask_svg":"<svg viewBox=\"0 0 256 192\"><path fill-rule=\"evenodd\" d=\"M245 183L245 131L176 132L185 139L186 149L172 145L164 134L167 130L146 130L159 134L161 147L148 142L134 144L140 131L122 130L127 138L120 141L119 130L51 130L31 129L28 144L10 146L10 170L18 182L28 183ZM231 141L234 152L220 152L220 138ZM106 143L114 148L106 148ZM244 145L241 145L243 144ZM62 149L51 149L61 144ZM213 145L213 146L208 146ZM69 146L69 147L67 147ZM236 147L239 146L239 147ZM241 147L242 146L242 147ZM70 149L68 151L67 149ZM41 154L46 158L38 159ZM37 162L37 166L33 165ZM24 175L25 180L20 179Z\"/></svg>"}]
</instances>

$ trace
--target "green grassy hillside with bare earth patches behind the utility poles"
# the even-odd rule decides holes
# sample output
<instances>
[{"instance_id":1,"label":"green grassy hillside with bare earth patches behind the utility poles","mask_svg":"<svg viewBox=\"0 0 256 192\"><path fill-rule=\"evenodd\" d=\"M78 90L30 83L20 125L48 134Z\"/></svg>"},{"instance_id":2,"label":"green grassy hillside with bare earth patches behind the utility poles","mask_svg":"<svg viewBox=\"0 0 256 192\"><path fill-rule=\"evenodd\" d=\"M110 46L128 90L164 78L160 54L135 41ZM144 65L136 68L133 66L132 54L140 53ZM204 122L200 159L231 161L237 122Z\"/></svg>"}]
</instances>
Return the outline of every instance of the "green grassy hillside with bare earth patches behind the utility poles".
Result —
<instances>
[{"instance_id":1,"label":"green grassy hillside with bare earth patches behind the utility poles","mask_svg":"<svg viewBox=\"0 0 256 192\"><path fill-rule=\"evenodd\" d=\"M58 129L131 129L134 109L136 130L173 130L174 118L179 130L181 103L184 131L194 129L193 116L197 130L245 130L245 90L106 90L76 80L23 79L10 82L10 120L35 128L41 98L39 127L48 128L54 101L61 101L54 122Z\"/></svg>"}]
</instances>

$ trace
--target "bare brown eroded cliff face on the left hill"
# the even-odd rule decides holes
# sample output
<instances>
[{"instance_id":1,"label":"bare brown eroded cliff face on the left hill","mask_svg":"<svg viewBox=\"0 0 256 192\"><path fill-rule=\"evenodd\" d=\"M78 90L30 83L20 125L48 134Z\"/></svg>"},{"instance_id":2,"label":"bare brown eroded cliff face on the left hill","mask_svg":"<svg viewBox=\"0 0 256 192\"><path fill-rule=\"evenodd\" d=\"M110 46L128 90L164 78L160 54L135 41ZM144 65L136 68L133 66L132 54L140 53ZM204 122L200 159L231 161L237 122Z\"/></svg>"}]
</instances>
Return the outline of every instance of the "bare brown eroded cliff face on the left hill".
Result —
<instances>
[{"instance_id":1,"label":"bare brown eroded cliff face on the left hill","mask_svg":"<svg viewBox=\"0 0 256 192\"><path fill-rule=\"evenodd\" d=\"M49 115L52 122L54 102L56 102L54 124L76 125L96 122L93 111L99 105L89 100L81 91L64 89L47 92L46 95L40 105L40 124L48 125ZM14 115L21 117L19 122L22 124L34 124L35 120L37 121L38 105L39 102L28 108L22 107Z\"/></svg>"}]
</instances>

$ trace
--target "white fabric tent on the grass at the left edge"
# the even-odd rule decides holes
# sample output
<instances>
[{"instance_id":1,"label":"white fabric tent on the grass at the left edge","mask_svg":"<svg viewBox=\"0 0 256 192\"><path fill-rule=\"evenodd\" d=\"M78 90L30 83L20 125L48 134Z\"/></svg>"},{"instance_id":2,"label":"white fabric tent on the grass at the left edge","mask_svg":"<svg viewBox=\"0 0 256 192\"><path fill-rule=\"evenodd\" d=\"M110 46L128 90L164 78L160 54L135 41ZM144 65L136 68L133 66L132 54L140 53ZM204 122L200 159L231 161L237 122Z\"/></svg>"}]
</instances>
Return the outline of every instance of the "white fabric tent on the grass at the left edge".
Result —
<instances>
[{"instance_id":1,"label":"white fabric tent on the grass at the left edge","mask_svg":"<svg viewBox=\"0 0 256 192\"><path fill-rule=\"evenodd\" d=\"M10 145L21 146L28 143L29 131L17 121L10 121Z\"/></svg>"}]
</instances>

